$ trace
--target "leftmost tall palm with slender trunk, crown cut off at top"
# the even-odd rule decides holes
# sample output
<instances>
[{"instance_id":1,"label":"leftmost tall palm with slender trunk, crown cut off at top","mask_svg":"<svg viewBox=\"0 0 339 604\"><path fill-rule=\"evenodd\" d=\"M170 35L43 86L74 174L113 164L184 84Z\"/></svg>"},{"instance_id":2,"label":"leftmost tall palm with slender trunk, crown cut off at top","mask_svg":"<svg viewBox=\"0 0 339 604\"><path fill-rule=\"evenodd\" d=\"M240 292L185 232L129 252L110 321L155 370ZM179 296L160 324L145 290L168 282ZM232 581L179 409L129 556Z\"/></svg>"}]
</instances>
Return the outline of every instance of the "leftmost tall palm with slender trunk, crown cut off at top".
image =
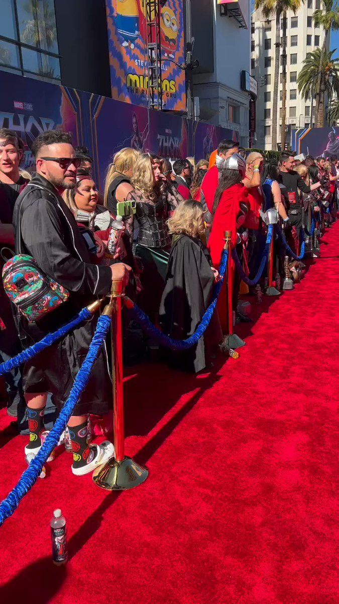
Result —
<instances>
[{"instance_id":1,"label":"leftmost tall palm with slender trunk, crown cut off at top","mask_svg":"<svg viewBox=\"0 0 339 604\"><path fill-rule=\"evenodd\" d=\"M276 47L274 55L274 87L272 104L272 149L277 148L277 109L278 109L278 91L279 91L279 66L280 66L280 18L284 11L292 10L293 13L300 8L303 0L255 0L255 10L260 9L263 16L269 19L275 16L276 19ZM286 36L285 36L286 39ZM286 42L285 42L286 45ZM286 103L285 103L286 104ZM286 112L286 109L285 109Z\"/></svg>"}]
</instances>

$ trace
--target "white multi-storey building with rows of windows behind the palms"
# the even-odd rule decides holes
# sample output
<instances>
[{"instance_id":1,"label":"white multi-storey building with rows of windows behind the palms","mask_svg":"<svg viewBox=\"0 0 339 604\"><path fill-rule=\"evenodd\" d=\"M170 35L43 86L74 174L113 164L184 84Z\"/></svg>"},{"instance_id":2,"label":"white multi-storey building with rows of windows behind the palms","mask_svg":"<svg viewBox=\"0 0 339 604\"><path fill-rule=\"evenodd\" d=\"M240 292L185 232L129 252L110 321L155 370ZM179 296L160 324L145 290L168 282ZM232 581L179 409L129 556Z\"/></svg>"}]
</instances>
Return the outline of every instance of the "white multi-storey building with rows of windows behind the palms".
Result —
<instances>
[{"instance_id":1,"label":"white multi-storey building with rows of windows behind the palms","mask_svg":"<svg viewBox=\"0 0 339 604\"><path fill-rule=\"evenodd\" d=\"M323 29L314 27L312 15L320 8L320 0L305 0L300 10L294 14L287 11L287 94L286 94L286 142L290 143L291 130L312 127L314 124L314 98L303 100L297 90L297 77L307 53L322 47L325 38ZM265 19L260 10L252 13L251 74L258 80L258 100L256 101L256 141L259 149L272 149L272 111L274 87L274 53L276 21L274 16ZM280 35L282 33L282 19ZM280 38L281 41L281 38ZM281 51L281 49L280 49ZM281 143L282 108L282 63L280 55L277 143ZM312 108L313 105L313 108Z\"/></svg>"}]
</instances>

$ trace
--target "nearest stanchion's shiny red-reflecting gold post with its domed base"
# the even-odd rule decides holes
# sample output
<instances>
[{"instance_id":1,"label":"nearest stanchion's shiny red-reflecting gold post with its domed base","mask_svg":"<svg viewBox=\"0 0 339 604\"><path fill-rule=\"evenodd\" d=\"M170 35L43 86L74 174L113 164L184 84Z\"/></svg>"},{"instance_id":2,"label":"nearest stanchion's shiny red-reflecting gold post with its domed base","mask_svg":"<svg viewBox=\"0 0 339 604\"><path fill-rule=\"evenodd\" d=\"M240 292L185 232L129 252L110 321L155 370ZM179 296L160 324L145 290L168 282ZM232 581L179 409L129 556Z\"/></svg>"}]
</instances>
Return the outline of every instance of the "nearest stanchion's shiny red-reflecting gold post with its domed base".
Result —
<instances>
[{"instance_id":1,"label":"nearest stanchion's shiny red-reflecting gold post with its domed base","mask_svg":"<svg viewBox=\"0 0 339 604\"><path fill-rule=\"evenodd\" d=\"M114 416L115 456L104 466L93 472L95 484L106 490L127 490L142 484L148 477L148 469L125 456L124 431L124 385L122 364L122 323L121 309L124 298L124 284L113 281L110 303L104 314L112 315L112 386Z\"/></svg>"}]
</instances>

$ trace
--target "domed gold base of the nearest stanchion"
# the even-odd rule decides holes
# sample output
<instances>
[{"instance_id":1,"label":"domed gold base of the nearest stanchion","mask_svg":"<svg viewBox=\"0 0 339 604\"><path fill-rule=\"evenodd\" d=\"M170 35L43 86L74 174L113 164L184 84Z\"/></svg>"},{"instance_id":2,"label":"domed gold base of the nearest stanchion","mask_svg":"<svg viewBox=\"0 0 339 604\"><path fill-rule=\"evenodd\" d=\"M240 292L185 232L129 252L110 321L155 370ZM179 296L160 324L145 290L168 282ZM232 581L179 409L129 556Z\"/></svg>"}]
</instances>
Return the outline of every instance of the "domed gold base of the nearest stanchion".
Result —
<instances>
[{"instance_id":1,"label":"domed gold base of the nearest stanchion","mask_svg":"<svg viewBox=\"0 0 339 604\"><path fill-rule=\"evenodd\" d=\"M144 483L147 477L148 469L139 466L130 457L125 457L123 461L116 461L112 457L93 472L93 482L106 490L134 489Z\"/></svg>"}]
</instances>

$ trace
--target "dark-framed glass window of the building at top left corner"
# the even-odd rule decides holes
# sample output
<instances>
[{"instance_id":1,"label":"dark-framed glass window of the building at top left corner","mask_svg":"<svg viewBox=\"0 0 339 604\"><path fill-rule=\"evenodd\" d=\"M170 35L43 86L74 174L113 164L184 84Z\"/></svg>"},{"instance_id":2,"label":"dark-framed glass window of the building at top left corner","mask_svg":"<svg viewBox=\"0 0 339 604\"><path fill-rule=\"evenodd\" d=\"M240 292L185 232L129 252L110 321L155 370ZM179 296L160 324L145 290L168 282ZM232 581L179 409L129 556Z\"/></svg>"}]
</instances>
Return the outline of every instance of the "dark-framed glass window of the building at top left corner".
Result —
<instances>
[{"instance_id":1,"label":"dark-framed glass window of the building at top left corner","mask_svg":"<svg viewBox=\"0 0 339 604\"><path fill-rule=\"evenodd\" d=\"M59 81L54 0L2 0L0 69Z\"/></svg>"}]
</instances>

